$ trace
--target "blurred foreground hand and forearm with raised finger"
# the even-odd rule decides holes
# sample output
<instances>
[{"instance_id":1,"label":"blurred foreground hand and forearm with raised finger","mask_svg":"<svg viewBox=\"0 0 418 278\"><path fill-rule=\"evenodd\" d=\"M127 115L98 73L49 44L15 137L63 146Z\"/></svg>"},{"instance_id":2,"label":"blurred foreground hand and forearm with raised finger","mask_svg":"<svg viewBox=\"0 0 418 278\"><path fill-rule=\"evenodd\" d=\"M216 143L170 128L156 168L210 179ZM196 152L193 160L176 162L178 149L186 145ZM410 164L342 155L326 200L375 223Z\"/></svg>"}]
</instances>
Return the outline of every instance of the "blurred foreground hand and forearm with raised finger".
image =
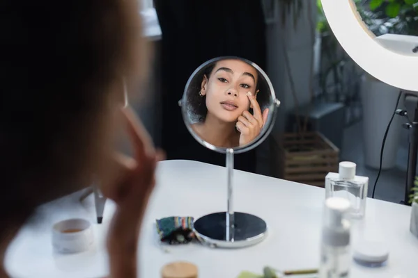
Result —
<instances>
[{"instance_id":1,"label":"blurred foreground hand and forearm with raised finger","mask_svg":"<svg viewBox=\"0 0 418 278\"><path fill-rule=\"evenodd\" d=\"M107 236L111 278L137 277L139 229L155 185L155 167L162 158L130 108L124 108L122 113L134 159L117 155L112 169L117 171L117 177L102 186L102 193L117 204Z\"/></svg>"}]
</instances>

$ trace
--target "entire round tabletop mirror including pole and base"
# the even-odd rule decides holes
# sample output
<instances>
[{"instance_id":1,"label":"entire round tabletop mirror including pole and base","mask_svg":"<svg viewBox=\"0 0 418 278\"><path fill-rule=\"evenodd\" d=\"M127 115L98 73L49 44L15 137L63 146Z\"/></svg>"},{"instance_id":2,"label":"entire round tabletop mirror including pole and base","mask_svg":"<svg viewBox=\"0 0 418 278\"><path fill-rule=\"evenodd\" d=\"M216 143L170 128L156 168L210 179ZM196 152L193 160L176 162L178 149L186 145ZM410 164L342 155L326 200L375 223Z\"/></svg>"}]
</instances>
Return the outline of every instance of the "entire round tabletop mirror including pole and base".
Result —
<instances>
[{"instance_id":1,"label":"entire round tabletop mirror including pole and base","mask_svg":"<svg viewBox=\"0 0 418 278\"><path fill-rule=\"evenodd\" d=\"M249 60L215 58L190 76L179 104L192 136L208 149L226 154L227 211L196 220L196 238L210 247L261 242L268 234L265 221L233 209L233 157L260 145L272 130L280 102L270 79Z\"/></svg>"}]
</instances>

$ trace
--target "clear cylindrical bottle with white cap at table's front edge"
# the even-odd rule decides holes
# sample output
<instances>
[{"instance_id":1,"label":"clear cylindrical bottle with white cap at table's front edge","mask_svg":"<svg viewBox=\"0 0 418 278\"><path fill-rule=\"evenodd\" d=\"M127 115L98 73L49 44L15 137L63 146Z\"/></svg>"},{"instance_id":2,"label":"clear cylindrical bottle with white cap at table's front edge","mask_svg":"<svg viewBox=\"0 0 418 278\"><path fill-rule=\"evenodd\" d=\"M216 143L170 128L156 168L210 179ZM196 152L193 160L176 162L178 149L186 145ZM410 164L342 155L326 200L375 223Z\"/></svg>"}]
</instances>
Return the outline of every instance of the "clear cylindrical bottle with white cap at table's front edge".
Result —
<instances>
[{"instance_id":1,"label":"clear cylindrical bottle with white cap at table's front edge","mask_svg":"<svg viewBox=\"0 0 418 278\"><path fill-rule=\"evenodd\" d=\"M350 277L350 210L348 199L330 197L325 200L319 277Z\"/></svg>"}]
</instances>

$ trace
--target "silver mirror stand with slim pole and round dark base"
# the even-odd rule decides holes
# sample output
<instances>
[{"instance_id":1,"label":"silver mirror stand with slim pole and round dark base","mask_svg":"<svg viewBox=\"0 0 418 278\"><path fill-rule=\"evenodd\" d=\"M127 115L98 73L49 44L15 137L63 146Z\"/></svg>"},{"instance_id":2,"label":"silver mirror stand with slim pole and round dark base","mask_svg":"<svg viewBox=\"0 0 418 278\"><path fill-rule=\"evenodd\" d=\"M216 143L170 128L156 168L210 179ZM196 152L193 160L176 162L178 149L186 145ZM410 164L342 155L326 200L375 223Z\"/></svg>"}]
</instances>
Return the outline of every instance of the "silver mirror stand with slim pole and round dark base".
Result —
<instances>
[{"instance_id":1,"label":"silver mirror stand with slim pole and round dark base","mask_svg":"<svg viewBox=\"0 0 418 278\"><path fill-rule=\"evenodd\" d=\"M233 149L226 150L227 211L204 215L194 222L196 238L210 247L249 247L267 236L263 219L233 210L233 155Z\"/></svg>"}]
</instances>

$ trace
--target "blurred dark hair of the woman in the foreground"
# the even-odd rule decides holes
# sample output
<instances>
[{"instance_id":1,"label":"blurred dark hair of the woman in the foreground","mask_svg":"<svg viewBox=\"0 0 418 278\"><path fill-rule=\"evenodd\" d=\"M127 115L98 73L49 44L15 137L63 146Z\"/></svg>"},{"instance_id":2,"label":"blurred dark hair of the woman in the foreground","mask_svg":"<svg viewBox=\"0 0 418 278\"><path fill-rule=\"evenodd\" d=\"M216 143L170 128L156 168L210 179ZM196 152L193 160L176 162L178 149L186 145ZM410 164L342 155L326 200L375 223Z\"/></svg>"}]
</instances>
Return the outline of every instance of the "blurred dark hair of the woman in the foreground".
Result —
<instances>
[{"instance_id":1,"label":"blurred dark hair of the woman in the foreground","mask_svg":"<svg viewBox=\"0 0 418 278\"><path fill-rule=\"evenodd\" d=\"M0 1L0 236L72 192L109 85L127 70L132 1ZM136 12L134 12L136 13Z\"/></svg>"}]
</instances>

